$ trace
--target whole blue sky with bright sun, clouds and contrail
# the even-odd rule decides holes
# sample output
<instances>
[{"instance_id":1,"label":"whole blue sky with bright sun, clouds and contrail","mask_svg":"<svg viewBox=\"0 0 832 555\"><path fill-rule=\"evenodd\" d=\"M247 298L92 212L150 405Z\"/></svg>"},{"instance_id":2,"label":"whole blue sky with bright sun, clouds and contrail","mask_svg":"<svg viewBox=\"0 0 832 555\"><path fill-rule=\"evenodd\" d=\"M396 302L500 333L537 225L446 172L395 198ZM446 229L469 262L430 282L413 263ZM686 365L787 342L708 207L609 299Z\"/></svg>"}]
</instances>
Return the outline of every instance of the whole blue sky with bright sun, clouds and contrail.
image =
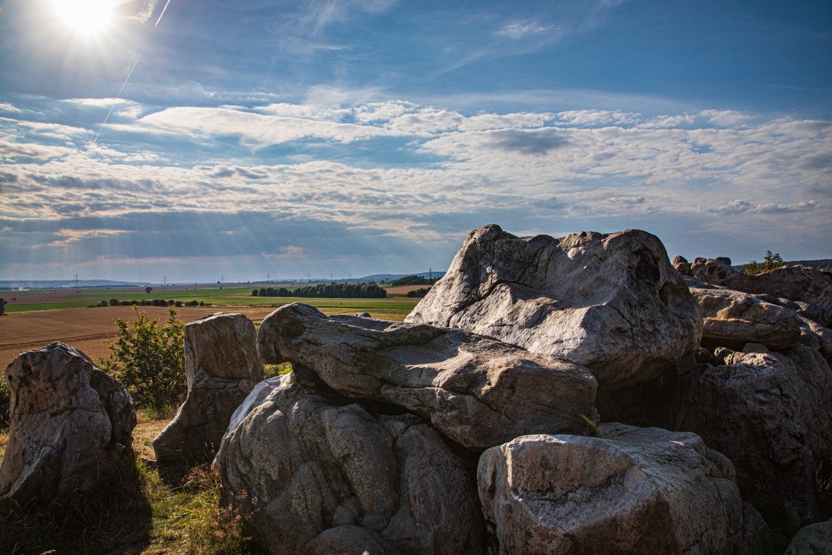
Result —
<instances>
[{"instance_id":1,"label":"whole blue sky with bright sun, clouds and contrail","mask_svg":"<svg viewBox=\"0 0 832 555\"><path fill-rule=\"evenodd\" d=\"M832 257L829 0L2 0L0 280Z\"/></svg>"}]
</instances>

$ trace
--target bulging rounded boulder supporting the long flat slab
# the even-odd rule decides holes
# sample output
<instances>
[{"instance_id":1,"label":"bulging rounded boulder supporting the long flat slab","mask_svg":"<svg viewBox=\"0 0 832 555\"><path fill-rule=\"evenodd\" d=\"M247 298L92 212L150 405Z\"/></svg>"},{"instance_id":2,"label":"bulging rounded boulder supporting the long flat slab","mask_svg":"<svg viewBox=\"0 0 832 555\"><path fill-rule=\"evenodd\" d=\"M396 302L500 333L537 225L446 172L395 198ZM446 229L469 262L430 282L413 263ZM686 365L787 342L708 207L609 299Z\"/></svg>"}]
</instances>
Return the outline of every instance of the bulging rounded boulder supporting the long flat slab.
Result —
<instances>
[{"instance_id":1,"label":"bulging rounded boulder supporting the long flat slab","mask_svg":"<svg viewBox=\"0 0 832 555\"><path fill-rule=\"evenodd\" d=\"M258 384L215 459L269 553L483 553L474 478L433 428L296 379Z\"/></svg>"}]
</instances>

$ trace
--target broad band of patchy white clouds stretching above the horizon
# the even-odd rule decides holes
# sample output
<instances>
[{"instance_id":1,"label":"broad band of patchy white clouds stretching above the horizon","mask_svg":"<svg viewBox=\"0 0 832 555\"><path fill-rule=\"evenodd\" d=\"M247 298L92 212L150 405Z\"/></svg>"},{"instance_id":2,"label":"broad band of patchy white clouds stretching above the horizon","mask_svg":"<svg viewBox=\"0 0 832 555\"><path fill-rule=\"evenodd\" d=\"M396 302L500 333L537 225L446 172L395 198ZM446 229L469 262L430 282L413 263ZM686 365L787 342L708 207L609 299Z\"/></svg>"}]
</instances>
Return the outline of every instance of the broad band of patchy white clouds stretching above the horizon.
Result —
<instances>
[{"instance_id":1,"label":"broad band of patchy white clouds stretching above the horizon","mask_svg":"<svg viewBox=\"0 0 832 555\"><path fill-rule=\"evenodd\" d=\"M777 243L759 237L773 229L807 251L830 236L829 121L466 115L399 101L117 106L107 132L121 140L106 146L90 129L0 107L6 275L191 257L244 271L268 260L298 276L441 265L492 221L520 234L641 227L671 255L719 254L720 235L752 251Z\"/></svg>"}]
</instances>

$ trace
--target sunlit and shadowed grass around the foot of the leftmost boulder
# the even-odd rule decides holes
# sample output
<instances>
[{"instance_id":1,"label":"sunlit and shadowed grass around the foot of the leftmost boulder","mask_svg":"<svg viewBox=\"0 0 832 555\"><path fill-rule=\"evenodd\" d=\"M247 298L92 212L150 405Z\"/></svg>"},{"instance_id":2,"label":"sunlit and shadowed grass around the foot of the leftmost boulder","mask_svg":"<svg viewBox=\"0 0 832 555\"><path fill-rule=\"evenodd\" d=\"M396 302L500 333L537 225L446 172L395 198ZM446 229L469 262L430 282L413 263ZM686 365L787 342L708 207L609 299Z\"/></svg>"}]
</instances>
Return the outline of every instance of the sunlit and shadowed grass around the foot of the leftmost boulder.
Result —
<instances>
[{"instance_id":1,"label":"sunlit and shadowed grass around the foot of the leftmost boulder","mask_svg":"<svg viewBox=\"0 0 832 555\"><path fill-rule=\"evenodd\" d=\"M172 487L162 480L152 463L152 441L168 418L157 416L138 414L133 432L136 459L122 473L118 488L102 498L76 499L0 518L0 553L262 553L245 523L219 507L219 476L208 465L195 468ZM0 459L6 443L7 434L0 434Z\"/></svg>"}]
</instances>

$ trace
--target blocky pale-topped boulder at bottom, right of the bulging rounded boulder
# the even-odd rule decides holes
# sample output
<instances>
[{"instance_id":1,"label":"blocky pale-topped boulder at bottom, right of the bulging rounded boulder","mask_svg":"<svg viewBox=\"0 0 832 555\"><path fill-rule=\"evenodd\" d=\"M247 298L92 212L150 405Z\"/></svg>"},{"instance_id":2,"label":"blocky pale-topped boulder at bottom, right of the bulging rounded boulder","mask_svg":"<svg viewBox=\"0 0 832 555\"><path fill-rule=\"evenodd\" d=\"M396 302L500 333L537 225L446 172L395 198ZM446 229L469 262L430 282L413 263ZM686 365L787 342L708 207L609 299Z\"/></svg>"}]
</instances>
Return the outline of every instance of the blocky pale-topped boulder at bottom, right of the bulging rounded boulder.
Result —
<instances>
[{"instance_id":1,"label":"blocky pale-topped boulder at bottom, right of the bulging rounded boulder","mask_svg":"<svg viewBox=\"0 0 832 555\"><path fill-rule=\"evenodd\" d=\"M696 434L602 424L485 451L480 503L498 553L736 553L743 508L730 461Z\"/></svg>"}]
</instances>

